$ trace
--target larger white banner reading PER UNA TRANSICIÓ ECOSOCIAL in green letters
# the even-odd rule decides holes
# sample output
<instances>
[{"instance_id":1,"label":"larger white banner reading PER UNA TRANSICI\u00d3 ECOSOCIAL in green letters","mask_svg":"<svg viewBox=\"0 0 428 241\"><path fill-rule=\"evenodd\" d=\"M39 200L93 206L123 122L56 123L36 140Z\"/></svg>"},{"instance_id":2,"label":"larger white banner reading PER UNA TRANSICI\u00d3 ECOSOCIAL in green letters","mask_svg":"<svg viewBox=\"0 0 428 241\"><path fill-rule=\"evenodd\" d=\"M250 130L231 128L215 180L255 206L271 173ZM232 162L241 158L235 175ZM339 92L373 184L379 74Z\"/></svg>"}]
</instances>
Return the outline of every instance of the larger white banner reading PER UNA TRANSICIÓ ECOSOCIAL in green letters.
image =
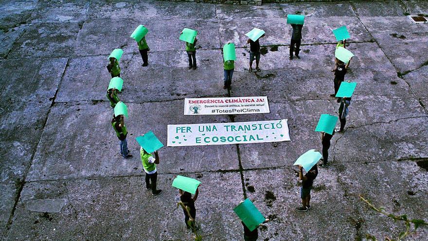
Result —
<instances>
[{"instance_id":1,"label":"larger white banner reading PER UNA TRANSICI\u00d3 ECOSOCIAL in green letters","mask_svg":"<svg viewBox=\"0 0 428 241\"><path fill-rule=\"evenodd\" d=\"M168 147L290 141L287 119L168 125Z\"/></svg>"}]
</instances>

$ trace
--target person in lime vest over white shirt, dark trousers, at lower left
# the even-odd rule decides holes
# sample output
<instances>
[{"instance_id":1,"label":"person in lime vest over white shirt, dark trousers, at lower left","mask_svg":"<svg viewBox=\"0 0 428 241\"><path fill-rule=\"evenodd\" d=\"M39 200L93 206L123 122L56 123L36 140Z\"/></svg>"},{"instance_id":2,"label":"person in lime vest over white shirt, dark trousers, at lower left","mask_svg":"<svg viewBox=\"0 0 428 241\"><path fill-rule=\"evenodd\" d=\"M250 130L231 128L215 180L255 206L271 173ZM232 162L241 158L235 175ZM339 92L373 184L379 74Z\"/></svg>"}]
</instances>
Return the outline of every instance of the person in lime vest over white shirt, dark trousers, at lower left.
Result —
<instances>
[{"instance_id":1,"label":"person in lime vest over white shirt, dark trousers, at lower left","mask_svg":"<svg viewBox=\"0 0 428 241\"><path fill-rule=\"evenodd\" d=\"M158 182L158 170L156 164L160 163L158 151L154 152L155 157L152 154L147 153L142 147L140 148L141 162L143 163L143 169L145 172L145 189L152 189L152 195L159 195L162 190L156 189L156 183Z\"/></svg>"}]
</instances>

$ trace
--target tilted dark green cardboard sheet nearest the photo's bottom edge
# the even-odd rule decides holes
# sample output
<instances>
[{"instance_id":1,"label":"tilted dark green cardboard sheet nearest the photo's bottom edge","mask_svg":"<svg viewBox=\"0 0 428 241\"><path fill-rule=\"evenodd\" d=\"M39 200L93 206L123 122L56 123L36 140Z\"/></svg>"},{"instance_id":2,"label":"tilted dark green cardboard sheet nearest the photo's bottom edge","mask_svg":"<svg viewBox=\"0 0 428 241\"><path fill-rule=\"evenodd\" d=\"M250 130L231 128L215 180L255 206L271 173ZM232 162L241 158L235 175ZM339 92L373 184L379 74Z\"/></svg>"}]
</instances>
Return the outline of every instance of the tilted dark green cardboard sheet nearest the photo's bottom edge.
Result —
<instances>
[{"instance_id":1,"label":"tilted dark green cardboard sheet nearest the photo's bottom edge","mask_svg":"<svg viewBox=\"0 0 428 241\"><path fill-rule=\"evenodd\" d=\"M253 231L265 221L265 217L248 198L233 208L233 211L238 215L242 222L244 222L248 229L250 229L250 231Z\"/></svg>"}]
</instances>

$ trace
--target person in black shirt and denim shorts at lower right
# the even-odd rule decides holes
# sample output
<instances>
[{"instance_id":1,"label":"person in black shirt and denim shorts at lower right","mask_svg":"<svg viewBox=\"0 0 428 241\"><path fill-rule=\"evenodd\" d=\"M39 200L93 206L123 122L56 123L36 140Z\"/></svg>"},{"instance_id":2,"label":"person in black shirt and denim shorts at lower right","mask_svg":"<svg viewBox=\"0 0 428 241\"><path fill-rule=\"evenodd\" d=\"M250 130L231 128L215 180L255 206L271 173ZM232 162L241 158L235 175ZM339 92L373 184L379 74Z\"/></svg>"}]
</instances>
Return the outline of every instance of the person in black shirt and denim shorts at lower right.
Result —
<instances>
[{"instance_id":1,"label":"person in black shirt and denim shorts at lower right","mask_svg":"<svg viewBox=\"0 0 428 241\"><path fill-rule=\"evenodd\" d=\"M314 165L309 171L303 176L303 167L299 165L299 180L302 180L302 186L300 187L300 198L302 199L302 206L296 207L299 212L306 212L311 209L311 189L315 178L318 176L317 165Z\"/></svg>"}]
</instances>

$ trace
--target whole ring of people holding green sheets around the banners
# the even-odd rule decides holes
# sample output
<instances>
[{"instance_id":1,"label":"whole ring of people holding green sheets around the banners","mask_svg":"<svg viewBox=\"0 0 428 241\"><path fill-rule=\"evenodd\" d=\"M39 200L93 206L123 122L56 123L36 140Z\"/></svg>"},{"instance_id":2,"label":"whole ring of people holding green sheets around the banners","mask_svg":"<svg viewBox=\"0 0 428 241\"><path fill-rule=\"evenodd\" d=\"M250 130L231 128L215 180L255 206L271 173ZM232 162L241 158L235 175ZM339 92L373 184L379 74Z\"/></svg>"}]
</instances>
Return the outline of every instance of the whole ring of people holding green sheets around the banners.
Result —
<instances>
[{"instance_id":1,"label":"whole ring of people holding green sheets around the banners","mask_svg":"<svg viewBox=\"0 0 428 241\"><path fill-rule=\"evenodd\" d=\"M289 59L292 60L294 57L300 59L300 45L302 40L302 28L303 28L304 16L301 15L288 15L287 23L291 24L292 34L290 41L290 50L289 50ZM148 66L148 51L150 48L146 42L145 36L148 32L148 29L139 25L130 37L134 38L137 42L139 52L143 59L143 67ZM310 191L313 186L313 181L318 175L318 167L328 167L328 149L330 148L330 141L335 132L343 132L346 124L346 116L348 114L348 107L351 104L351 95L354 92L356 83L344 82L344 77L347 72L347 69L352 59L353 54L346 50L346 39L349 38L349 33L346 29L346 26L341 26L338 29L333 30L333 33L336 39L339 41L336 46L335 51L335 65L332 69L334 72L334 93L330 94L332 97L337 97L337 102L339 104L339 127L335 128L338 117L322 114L320 121L317 125L316 131L321 132L321 143L322 143L322 155L317 150L310 150L303 154L307 157L315 153L318 153L319 156L313 158L312 163L307 165L299 165L299 171L297 173L300 180L302 180L302 186L300 188L300 196L302 199L302 205L296 208L297 211L306 212L310 206ZM185 42L186 52L189 58L189 70L196 70L196 35L197 31L184 28L180 33L179 39ZM255 59L256 67L255 71L259 72L260 61L260 43L259 39L265 37L265 31L254 28L249 33L247 43L250 44L250 66L248 71L252 72L252 63ZM123 102L120 101L118 94L121 93L123 87L123 79L120 78L120 65L119 61L123 55L123 50L115 49L108 56L109 63L107 65L107 70L111 74L111 80L107 88L107 99L110 102L110 106L114 109L113 118L111 120L111 125L116 132L116 135L119 139L119 148L120 154L124 159L132 158L130 151L127 147L126 135L127 130L124 123L125 117L127 117L126 106ZM223 47L223 67L224 67L224 86L223 89L231 90L232 85L232 75L234 70L234 61L236 59L235 54L235 45L231 42L228 42ZM343 82L343 84L342 84ZM342 85L343 88L340 88ZM346 86L343 86L346 85ZM338 93L339 92L339 93ZM140 143L141 144L141 143ZM156 165L160 163L160 158L158 151L153 151L150 148L140 148L140 156L143 164L143 170L145 172L145 185L146 190L151 190L153 196L159 195L162 190L157 189L157 178L158 172ZM314 156L314 155L312 155ZM301 159L299 158L299 159ZM299 162L299 159L297 162ZM317 165L317 162L321 161ZM296 163L297 163L296 162ZM305 166L305 167L303 167ZM303 168L306 173L303 175ZM200 182L183 176L177 176L173 182L173 186L178 187L180 194L180 202L178 203L183 208L184 221L186 227L196 232L198 226L195 224L196 218L196 208L195 202L199 193ZM194 196L192 197L192 194ZM269 219L266 219L254 206L254 204L246 199L241 202L238 206L234 208L235 213L242 220L242 225L244 227L244 240L245 241L255 241L258 238L257 227L262 223L268 222Z\"/></svg>"}]
</instances>

